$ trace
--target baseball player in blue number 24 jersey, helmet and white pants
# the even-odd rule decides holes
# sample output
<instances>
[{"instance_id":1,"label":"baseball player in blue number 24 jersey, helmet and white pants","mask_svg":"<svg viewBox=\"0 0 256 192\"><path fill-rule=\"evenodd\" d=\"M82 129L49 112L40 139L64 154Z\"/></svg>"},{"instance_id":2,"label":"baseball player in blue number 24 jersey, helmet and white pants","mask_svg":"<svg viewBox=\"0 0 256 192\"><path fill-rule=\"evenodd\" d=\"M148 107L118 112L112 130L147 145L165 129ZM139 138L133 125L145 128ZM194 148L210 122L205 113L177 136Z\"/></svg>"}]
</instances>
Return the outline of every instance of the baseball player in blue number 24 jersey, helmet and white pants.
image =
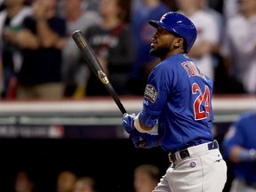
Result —
<instances>
[{"instance_id":1,"label":"baseball player in blue number 24 jersey, helmet and white pants","mask_svg":"<svg viewBox=\"0 0 256 192\"><path fill-rule=\"evenodd\" d=\"M179 12L149 24L156 28L150 53L161 62L148 76L140 113L124 115L124 129L136 148L168 153L171 164L153 192L220 192L227 164L212 136L212 80L186 54L196 27Z\"/></svg>"}]
</instances>

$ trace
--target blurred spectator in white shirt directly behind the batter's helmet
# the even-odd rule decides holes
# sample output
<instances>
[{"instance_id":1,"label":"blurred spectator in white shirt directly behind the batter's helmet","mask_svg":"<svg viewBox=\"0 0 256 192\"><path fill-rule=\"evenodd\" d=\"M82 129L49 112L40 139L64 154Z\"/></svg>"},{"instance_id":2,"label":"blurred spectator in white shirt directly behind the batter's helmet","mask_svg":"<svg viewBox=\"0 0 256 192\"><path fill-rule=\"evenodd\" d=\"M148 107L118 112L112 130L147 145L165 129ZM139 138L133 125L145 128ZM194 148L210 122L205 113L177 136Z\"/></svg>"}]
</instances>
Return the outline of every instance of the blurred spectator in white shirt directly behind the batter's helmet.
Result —
<instances>
[{"instance_id":1,"label":"blurred spectator in white shirt directly behind the batter's helmet","mask_svg":"<svg viewBox=\"0 0 256 192\"><path fill-rule=\"evenodd\" d=\"M212 13L204 9L204 0L176 0L178 11L194 22L197 29L196 42L188 53L198 67L214 81L213 53L220 45L220 28Z\"/></svg>"}]
</instances>

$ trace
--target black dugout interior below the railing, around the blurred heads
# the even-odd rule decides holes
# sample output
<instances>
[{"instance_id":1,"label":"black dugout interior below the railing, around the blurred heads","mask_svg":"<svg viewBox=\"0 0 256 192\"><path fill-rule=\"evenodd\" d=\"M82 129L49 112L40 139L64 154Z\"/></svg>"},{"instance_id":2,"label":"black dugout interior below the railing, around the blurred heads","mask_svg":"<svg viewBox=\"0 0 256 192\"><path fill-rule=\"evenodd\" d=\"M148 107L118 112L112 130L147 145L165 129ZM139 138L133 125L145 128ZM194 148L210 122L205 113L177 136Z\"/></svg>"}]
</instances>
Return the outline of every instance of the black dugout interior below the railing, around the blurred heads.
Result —
<instances>
[{"instance_id":1,"label":"black dugout interior below the railing, around the blurred heads","mask_svg":"<svg viewBox=\"0 0 256 192\"><path fill-rule=\"evenodd\" d=\"M221 143L221 138L216 139ZM134 148L128 139L2 139L0 147L0 191L4 192L13 191L15 172L22 169L31 173L36 192L55 192L57 174L63 170L92 176L99 192L131 192L137 165L156 164L162 175L169 166L161 148ZM224 191L228 192L231 179L229 175Z\"/></svg>"}]
</instances>

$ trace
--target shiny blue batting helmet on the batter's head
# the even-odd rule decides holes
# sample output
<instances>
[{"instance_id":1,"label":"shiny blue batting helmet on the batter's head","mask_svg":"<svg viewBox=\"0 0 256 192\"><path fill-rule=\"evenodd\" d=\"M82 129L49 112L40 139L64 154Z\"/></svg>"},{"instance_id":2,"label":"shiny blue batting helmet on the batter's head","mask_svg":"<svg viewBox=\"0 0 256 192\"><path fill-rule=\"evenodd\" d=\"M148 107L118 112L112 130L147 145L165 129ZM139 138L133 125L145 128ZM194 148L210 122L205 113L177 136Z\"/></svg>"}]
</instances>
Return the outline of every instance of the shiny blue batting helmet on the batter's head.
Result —
<instances>
[{"instance_id":1,"label":"shiny blue batting helmet on the batter's head","mask_svg":"<svg viewBox=\"0 0 256 192\"><path fill-rule=\"evenodd\" d=\"M148 22L154 28L160 26L173 34L181 36L185 41L185 52L187 53L196 41L197 33L194 23L179 12L167 12L160 20L149 20Z\"/></svg>"}]
</instances>

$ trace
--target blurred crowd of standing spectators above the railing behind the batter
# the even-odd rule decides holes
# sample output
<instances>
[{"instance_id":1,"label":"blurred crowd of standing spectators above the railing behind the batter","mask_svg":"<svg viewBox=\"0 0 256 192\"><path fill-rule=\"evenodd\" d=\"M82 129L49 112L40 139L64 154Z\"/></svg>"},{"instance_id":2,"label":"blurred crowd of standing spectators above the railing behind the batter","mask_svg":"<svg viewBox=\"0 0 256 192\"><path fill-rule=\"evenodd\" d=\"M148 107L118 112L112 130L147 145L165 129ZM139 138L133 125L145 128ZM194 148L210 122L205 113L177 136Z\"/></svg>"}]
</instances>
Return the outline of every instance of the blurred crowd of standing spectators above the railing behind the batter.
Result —
<instances>
[{"instance_id":1,"label":"blurred crowd of standing spectators above the railing behind the batter","mask_svg":"<svg viewBox=\"0 0 256 192\"><path fill-rule=\"evenodd\" d=\"M149 54L148 20L182 12L197 28L189 56L214 82L214 93L256 93L254 0L2 0L2 100L108 95L76 47L83 32L119 95L143 95L159 62Z\"/></svg>"}]
</instances>

